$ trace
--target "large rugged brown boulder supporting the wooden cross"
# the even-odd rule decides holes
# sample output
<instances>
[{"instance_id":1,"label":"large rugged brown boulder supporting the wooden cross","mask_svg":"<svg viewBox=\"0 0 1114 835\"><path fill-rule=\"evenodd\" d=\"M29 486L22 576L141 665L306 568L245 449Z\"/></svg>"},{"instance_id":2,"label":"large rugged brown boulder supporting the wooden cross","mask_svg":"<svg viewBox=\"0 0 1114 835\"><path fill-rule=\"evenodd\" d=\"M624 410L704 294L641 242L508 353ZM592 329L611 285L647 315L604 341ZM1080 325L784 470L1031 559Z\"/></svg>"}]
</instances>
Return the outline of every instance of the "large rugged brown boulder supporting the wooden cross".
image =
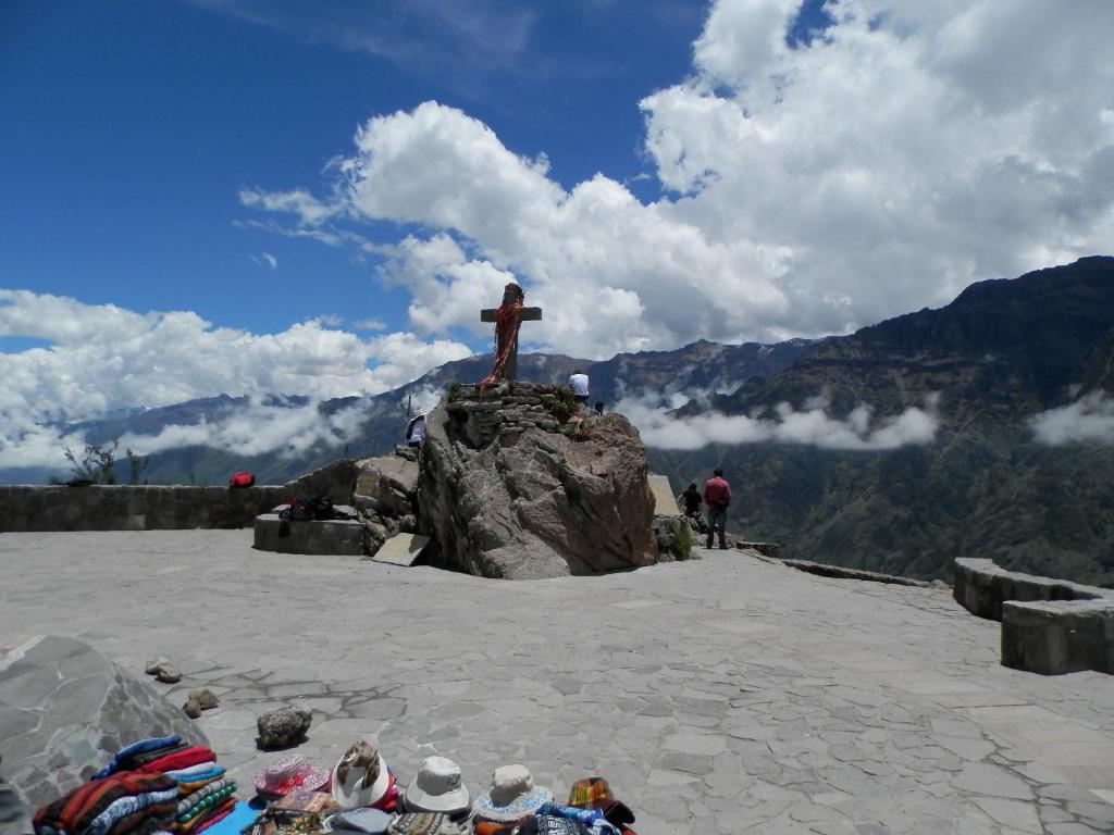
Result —
<instances>
[{"instance_id":1,"label":"large rugged brown boulder supporting the wooden cross","mask_svg":"<svg viewBox=\"0 0 1114 835\"><path fill-rule=\"evenodd\" d=\"M427 421L419 532L434 564L530 579L655 562L654 497L638 432L619 414L561 424L551 389L460 386Z\"/></svg>"}]
</instances>

